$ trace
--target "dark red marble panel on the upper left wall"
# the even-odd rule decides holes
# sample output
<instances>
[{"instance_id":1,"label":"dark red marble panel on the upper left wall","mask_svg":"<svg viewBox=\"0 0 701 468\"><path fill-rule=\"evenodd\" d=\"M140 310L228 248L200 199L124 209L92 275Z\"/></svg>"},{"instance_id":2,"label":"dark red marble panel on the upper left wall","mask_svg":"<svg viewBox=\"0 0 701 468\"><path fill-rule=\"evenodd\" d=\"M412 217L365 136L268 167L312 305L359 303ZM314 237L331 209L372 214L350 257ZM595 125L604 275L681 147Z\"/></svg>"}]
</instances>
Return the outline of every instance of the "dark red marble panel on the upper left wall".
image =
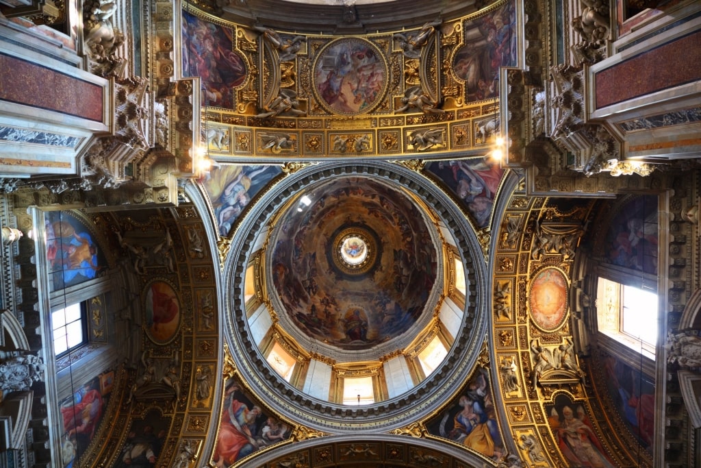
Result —
<instances>
[{"instance_id":1,"label":"dark red marble panel on the upper left wall","mask_svg":"<svg viewBox=\"0 0 701 468\"><path fill-rule=\"evenodd\" d=\"M102 86L0 54L0 100L102 122Z\"/></svg>"}]
</instances>

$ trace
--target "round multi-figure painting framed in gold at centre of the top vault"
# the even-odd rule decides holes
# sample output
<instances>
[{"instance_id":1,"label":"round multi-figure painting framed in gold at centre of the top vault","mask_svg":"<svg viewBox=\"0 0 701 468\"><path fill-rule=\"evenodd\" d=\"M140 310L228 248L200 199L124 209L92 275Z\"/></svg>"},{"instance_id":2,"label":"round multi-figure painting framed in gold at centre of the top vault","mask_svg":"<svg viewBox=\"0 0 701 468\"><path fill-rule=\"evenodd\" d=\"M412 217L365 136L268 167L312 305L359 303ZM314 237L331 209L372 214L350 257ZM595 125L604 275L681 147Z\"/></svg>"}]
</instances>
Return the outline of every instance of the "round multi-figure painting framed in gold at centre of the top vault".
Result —
<instances>
[{"instance_id":1,"label":"round multi-figure painting framed in gold at centre of the top vault","mask_svg":"<svg viewBox=\"0 0 701 468\"><path fill-rule=\"evenodd\" d=\"M355 115L379 104L387 86L385 59L372 42L337 39L320 51L314 64L314 91L333 114Z\"/></svg>"}]
</instances>

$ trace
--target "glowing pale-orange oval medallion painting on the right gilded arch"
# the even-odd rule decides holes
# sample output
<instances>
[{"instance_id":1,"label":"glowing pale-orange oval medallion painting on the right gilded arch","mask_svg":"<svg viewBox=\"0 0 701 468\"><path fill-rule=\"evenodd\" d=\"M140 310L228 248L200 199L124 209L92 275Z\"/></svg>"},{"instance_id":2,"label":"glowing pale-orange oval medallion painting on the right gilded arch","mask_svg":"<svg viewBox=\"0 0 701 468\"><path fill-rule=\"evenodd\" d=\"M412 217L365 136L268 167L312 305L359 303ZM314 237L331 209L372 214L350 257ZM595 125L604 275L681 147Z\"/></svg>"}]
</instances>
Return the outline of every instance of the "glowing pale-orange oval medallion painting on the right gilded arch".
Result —
<instances>
[{"instance_id":1,"label":"glowing pale-orange oval medallion painting on the right gilded arch","mask_svg":"<svg viewBox=\"0 0 701 468\"><path fill-rule=\"evenodd\" d=\"M531 317L544 331L559 328L567 312L567 278L557 268L545 268L536 274L529 295Z\"/></svg>"}]
</instances>

